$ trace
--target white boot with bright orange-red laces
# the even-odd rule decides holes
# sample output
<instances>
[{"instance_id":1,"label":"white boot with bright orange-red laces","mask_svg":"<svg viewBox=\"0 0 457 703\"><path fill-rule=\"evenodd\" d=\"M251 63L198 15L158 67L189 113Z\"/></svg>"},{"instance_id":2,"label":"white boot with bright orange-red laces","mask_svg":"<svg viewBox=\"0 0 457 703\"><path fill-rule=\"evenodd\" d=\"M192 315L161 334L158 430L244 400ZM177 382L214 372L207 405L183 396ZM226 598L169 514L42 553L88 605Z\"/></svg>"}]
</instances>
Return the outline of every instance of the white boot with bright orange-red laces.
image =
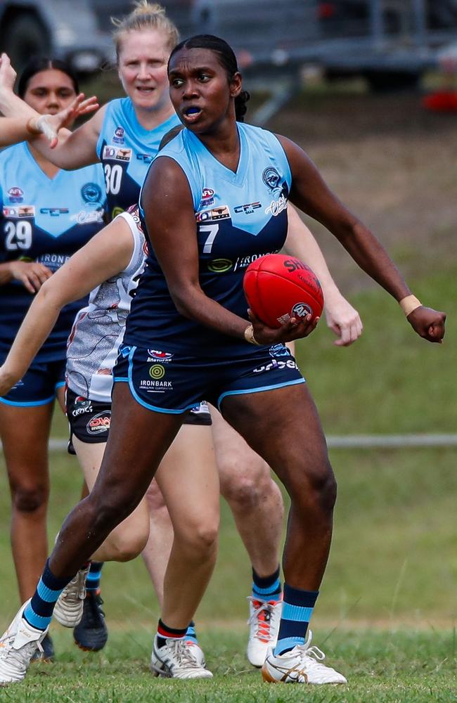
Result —
<instances>
[{"instance_id":1,"label":"white boot with bright orange-red laces","mask_svg":"<svg viewBox=\"0 0 457 703\"><path fill-rule=\"evenodd\" d=\"M276 646L278 639L282 600L257 600L249 596L249 640L247 640L247 659L252 666L262 666L266 652Z\"/></svg>"}]
</instances>

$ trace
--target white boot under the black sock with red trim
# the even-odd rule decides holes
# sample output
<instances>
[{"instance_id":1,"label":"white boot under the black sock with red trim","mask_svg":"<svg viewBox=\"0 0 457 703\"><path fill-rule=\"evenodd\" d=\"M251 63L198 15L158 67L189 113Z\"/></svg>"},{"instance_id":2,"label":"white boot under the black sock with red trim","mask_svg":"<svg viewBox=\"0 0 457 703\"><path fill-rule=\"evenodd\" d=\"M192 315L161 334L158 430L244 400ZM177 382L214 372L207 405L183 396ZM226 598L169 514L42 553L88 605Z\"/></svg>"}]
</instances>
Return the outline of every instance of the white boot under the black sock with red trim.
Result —
<instances>
[{"instance_id":1,"label":"white boot under the black sock with red trim","mask_svg":"<svg viewBox=\"0 0 457 703\"><path fill-rule=\"evenodd\" d=\"M166 638L165 645L159 647L155 636L153 653L150 657L150 670L155 676L167 676L167 678L212 678L211 671L208 671L205 664L200 664L195 657L195 643L192 643L193 647L189 644L185 638L169 637Z\"/></svg>"}]
</instances>

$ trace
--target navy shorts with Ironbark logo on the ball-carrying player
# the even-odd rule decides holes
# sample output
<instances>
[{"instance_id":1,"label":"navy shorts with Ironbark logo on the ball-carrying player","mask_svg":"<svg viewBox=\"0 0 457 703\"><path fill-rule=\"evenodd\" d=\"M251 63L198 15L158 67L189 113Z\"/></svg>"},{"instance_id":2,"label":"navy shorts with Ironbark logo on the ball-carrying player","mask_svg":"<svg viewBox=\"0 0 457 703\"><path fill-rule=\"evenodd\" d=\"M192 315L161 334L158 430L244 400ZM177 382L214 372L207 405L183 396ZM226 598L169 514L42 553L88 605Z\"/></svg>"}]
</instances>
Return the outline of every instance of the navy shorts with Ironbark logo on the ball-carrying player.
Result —
<instances>
[{"instance_id":1,"label":"navy shorts with Ironbark logo on the ball-carrying player","mask_svg":"<svg viewBox=\"0 0 457 703\"><path fill-rule=\"evenodd\" d=\"M284 344L250 347L244 356L215 359L188 352L156 352L121 344L113 376L129 384L134 399L159 413L184 413L203 398L220 408L226 396L304 383Z\"/></svg>"}]
</instances>

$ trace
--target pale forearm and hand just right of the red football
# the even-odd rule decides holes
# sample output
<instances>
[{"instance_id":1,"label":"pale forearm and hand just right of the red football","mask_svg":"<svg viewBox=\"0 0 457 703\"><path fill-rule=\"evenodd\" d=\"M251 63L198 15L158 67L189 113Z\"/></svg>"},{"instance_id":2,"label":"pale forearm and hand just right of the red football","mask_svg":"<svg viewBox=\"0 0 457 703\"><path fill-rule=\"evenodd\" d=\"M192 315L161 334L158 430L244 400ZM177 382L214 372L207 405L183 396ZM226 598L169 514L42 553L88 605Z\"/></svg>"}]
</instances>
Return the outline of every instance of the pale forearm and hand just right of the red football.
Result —
<instances>
[{"instance_id":1,"label":"pale forearm and hand just right of the red football","mask_svg":"<svg viewBox=\"0 0 457 703\"><path fill-rule=\"evenodd\" d=\"M334 344L337 347L348 347L360 337L363 330L359 313L341 295L316 239L302 222L293 205L288 206L288 221L285 250L288 254L302 259L316 273L323 290L327 325L337 335Z\"/></svg>"}]
</instances>

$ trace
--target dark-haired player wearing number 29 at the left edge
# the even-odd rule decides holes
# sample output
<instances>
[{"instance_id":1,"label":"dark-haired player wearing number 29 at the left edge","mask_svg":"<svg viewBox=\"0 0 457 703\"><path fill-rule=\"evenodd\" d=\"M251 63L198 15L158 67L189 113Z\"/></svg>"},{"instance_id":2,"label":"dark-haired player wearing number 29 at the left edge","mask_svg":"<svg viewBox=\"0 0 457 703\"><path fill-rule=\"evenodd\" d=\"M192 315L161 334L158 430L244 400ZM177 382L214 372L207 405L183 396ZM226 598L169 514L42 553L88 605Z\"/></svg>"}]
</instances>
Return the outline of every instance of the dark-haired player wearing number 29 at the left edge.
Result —
<instances>
[{"instance_id":1,"label":"dark-haired player wearing number 29 at the left edge","mask_svg":"<svg viewBox=\"0 0 457 703\"><path fill-rule=\"evenodd\" d=\"M2 63L4 57L2 57ZM54 138L82 102L67 64L38 58L25 67L18 90L30 115L0 118L2 143L30 131ZM46 117L40 117L40 115ZM5 128L2 129L5 124ZM8 354L33 296L60 266L103 227L105 195L100 166L70 174L46 160L27 142L0 154L0 359ZM30 370L0 398L0 437L11 486L11 543L20 600L30 597L48 542L48 440L56 397L64 408L65 353L75 312L66 307ZM53 657L46 638L44 656Z\"/></svg>"}]
</instances>

